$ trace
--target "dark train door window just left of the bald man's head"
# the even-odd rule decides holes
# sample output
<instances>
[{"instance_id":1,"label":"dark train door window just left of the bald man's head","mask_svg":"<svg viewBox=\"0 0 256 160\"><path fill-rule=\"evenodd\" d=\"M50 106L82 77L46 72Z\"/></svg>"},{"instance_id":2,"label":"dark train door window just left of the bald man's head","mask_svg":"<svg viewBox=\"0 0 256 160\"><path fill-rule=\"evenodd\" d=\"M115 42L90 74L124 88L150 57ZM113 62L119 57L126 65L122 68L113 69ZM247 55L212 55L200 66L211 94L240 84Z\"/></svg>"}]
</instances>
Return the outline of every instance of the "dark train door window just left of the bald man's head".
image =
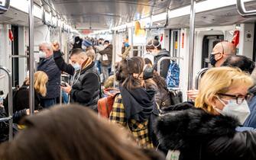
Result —
<instances>
[{"instance_id":1,"label":"dark train door window just left of the bald man's head","mask_svg":"<svg viewBox=\"0 0 256 160\"><path fill-rule=\"evenodd\" d=\"M209 55L212 53L212 49L216 43L224 40L224 35L210 35L203 37L203 46L202 46L202 65L201 68L212 67L209 61Z\"/></svg>"}]
</instances>

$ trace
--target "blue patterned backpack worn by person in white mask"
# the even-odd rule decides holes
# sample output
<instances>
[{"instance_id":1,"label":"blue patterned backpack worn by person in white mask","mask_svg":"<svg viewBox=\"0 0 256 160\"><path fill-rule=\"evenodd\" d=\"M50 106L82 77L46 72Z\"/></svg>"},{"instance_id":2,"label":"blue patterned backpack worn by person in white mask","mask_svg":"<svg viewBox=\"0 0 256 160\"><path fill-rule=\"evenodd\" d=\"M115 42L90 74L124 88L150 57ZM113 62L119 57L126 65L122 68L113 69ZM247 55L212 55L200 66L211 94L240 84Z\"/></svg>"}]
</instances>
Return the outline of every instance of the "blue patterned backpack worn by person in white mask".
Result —
<instances>
[{"instance_id":1,"label":"blue patterned backpack worn by person in white mask","mask_svg":"<svg viewBox=\"0 0 256 160\"><path fill-rule=\"evenodd\" d=\"M180 85L180 67L175 61L170 63L166 82L167 88L177 88Z\"/></svg>"}]
</instances>

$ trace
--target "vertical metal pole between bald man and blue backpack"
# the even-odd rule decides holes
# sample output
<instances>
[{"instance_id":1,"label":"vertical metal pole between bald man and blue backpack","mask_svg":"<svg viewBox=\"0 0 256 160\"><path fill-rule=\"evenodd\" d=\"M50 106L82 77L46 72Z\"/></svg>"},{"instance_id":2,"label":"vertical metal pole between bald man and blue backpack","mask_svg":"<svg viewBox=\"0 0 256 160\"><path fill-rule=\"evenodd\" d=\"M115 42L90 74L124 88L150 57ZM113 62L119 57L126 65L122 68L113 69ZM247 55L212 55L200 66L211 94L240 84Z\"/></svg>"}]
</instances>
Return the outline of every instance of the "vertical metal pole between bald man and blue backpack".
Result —
<instances>
[{"instance_id":1,"label":"vertical metal pole between bald man and blue backpack","mask_svg":"<svg viewBox=\"0 0 256 160\"><path fill-rule=\"evenodd\" d=\"M190 11L190 54L189 54L189 82L188 90L193 88L193 62L194 62L194 33L195 33L195 5L196 0L191 0Z\"/></svg>"}]
</instances>

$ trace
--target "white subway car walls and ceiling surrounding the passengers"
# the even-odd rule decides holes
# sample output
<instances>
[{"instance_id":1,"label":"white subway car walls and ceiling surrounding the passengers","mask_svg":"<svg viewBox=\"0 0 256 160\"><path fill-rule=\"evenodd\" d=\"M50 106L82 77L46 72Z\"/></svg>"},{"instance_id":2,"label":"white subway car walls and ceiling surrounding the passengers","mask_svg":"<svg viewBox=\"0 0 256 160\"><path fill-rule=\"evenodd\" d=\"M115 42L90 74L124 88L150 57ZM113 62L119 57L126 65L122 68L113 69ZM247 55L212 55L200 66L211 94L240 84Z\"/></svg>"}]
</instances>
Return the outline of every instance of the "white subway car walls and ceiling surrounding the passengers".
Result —
<instances>
[{"instance_id":1,"label":"white subway car walls and ceiling surrounding the passengers","mask_svg":"<svg viewBox=\"0 0 256 160\"><path fill-rule=\"evenodd\" d=\"M108 40L112 44L109 74L113 74L122 61L125 43L131 47L128 57L144 57L151 54L148 42L157 39L170 53L167 60L179 67L178 85L168 89L182 93L183 101L187 101L187 91L198 88L199 73L212 68L209 56L215 44L232 42L236 55L255 62L255 22L255 0L0 0L1 107L5 98L9 101L4 119L13 123L11 105L15 96L8 93L21 87L28 77L34 81L31 76L41 61L42 43L57 43L69 63L73 61L70 55L75 37L96 46L97 40ZM154 64L154 55L152 63L160 72L161 62ZM101 84L106 80L102 74L99 78ZM34 84L29 86L34 88ZM114 80L113 87L117 86ZM63 97L59 97L63 104ZM30 89L30 114L34 114L34 98ZM10 140L11 132L10 127Z\"/></svg>"}]
</instances>

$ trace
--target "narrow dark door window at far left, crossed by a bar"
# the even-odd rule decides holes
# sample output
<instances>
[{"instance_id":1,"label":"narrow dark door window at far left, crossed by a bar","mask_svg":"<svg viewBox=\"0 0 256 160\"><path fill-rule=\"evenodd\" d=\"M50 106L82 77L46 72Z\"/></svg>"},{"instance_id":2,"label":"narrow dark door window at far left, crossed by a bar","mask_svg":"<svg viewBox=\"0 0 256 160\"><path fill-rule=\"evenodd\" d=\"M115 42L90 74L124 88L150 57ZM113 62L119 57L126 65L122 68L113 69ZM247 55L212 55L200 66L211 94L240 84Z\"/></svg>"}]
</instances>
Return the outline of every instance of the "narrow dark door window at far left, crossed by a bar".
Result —
<instances>
[{"instance_id":1,"label":"narrow dark door window at far left, crossed by a bar","mask_svg":"<svg viewBox=\"0 0 256 160\"><path fill-rule=\"evenodd\" d=\"M11 42L11 55L18 55L18 26L11 26L13 40ZM11 60L12 62L12 86L19 84L18 74L18 58Z\"/></svg>"}]
</instances>

